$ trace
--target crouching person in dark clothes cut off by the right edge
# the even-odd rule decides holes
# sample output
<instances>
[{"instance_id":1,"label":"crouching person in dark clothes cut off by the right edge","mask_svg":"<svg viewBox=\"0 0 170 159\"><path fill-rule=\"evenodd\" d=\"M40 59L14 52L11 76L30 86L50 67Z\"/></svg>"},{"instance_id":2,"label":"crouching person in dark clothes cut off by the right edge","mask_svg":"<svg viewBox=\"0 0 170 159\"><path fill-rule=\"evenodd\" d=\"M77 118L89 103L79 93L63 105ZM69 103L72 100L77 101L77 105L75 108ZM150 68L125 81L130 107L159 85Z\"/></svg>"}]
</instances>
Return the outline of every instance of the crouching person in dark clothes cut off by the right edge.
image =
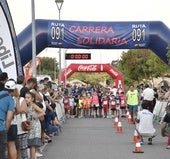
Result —
<instances>
[{"instance_id":1,"label":"crouching person in dark clothes cut off by the right edge","mask_svg":"<svg viewBox=\"0 0 170 159\"><path fill-rule=\"evenodd\" d=\"M166 114L163 118L161 134L163 137L168 137L167 149L170 149L170 105L167 105L165 108Z\"/></svg>"}]
</instances>

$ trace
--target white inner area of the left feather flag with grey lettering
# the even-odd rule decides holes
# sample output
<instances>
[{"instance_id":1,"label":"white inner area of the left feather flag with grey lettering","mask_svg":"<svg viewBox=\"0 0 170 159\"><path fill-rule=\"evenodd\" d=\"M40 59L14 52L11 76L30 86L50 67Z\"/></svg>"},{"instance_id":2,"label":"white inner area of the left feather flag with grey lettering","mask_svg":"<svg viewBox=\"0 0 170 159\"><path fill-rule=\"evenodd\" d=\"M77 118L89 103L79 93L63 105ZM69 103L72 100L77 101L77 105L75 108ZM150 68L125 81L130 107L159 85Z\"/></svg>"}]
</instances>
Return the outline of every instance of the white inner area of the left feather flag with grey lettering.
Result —
<instances>
[{"instance_id":1,"label":"white inner area of the left feather flag with grey lettering","mask_svg":"<svg viewBox=\"0 0 170 159\"><path fill-rule=\"evenodd\" d=\"M0 69L7 72L9 78L16 80L17 67L15 58L15 48L13 44L10 25L0 5Z\"/></svg>"}]
</instances>

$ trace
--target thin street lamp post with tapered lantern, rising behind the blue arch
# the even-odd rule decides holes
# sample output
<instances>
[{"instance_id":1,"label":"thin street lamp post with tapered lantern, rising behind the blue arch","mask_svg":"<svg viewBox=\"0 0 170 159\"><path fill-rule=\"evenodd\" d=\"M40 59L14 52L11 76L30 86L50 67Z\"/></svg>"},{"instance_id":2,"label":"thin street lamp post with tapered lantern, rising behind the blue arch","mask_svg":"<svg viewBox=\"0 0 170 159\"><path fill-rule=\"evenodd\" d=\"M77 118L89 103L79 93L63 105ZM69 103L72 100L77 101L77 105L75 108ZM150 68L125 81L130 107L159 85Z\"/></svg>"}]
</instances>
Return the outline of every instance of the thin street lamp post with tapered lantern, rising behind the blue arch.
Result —
<instances>
[{"instance_id":1,"label":"thin street lamp post with tapered lantern, rising behind the blue arch","mask_svg":"<svg viewBox=\"0 0 170 159\"><path fill-rule=\"evenodd\" d=\"M59 13L59 21L61 20L61 8L63 5L64 0L55 0L55 3L57 4L58 13ZM59 48L59 81L58 83L61 83L61 48Z\"/></svg>"}]
</instances>

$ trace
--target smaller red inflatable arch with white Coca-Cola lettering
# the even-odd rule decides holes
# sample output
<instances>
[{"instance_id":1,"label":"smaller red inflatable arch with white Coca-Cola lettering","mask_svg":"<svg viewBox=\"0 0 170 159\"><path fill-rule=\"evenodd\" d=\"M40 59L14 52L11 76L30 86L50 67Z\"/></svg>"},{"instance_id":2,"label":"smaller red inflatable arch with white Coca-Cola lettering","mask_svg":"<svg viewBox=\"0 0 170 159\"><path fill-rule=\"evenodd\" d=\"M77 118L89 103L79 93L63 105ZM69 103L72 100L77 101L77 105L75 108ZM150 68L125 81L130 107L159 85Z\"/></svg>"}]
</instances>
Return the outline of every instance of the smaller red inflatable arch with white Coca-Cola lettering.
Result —
<instances>
[{"instance_id":1,"label":"smaller red inflatable arch with white Coca-Cola lettering","mask_svg":"<svg viewBox=\"0 0 170 159\"><path fill-rule=\"evenodd\" d=\"M70 64L62 71L61 80L66 83L65 80L75 72L106 72L115 79L115 86L124 90L124 78L111 64Z\"/></svg>"}]
</instances>

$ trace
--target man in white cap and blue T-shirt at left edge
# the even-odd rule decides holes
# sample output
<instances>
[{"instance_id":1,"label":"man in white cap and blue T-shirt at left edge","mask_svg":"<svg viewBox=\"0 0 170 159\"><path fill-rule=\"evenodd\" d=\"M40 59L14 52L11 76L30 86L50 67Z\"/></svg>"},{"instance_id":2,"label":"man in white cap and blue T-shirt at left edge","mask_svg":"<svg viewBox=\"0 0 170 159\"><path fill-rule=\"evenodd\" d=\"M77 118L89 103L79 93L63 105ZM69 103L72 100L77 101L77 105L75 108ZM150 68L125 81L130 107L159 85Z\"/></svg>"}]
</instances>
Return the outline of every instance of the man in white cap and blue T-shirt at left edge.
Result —
<instances>
[{"instance_id":1,"label":"man in white cap and blue T-shirt at left edge","mask_svg":"<svg viewBox=\"0 0 170 159\"><path fill-rule=\"evenodd\" d=\"M15 82L7 81L5 83L5 90L0 91L0 155L2 159L7 156L7 131L11 125L13 114L15 111L15 102L13 94L15 90Z\"/></svg>"}]
</instances>

